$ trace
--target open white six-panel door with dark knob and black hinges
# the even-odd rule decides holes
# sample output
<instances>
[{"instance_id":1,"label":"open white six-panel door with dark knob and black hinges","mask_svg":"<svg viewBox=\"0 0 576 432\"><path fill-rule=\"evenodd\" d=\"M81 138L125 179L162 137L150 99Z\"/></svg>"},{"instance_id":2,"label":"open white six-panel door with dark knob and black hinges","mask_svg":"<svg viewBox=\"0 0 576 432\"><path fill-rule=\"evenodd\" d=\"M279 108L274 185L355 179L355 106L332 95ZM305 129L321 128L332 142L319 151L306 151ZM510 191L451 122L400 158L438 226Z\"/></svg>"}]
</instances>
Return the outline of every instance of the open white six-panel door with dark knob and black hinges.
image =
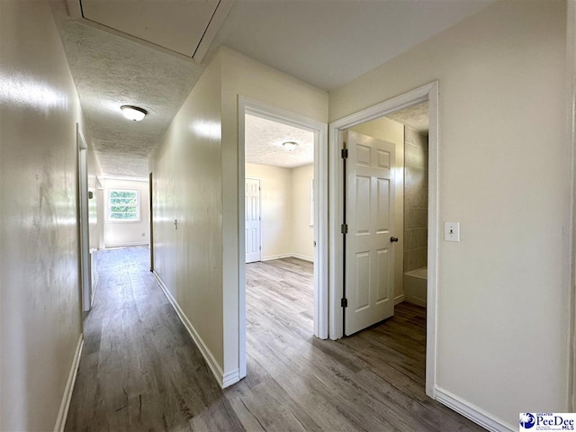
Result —
<instances>
[{"instance_id":1,"label":"open white six-panel door with dark knob and black hinges","mask_svg":"<svg viewBox=\"0 0 576 432\"><path fill-rule=\"evenodd\" d=\"M347 133L346 335L394 314L394 149Z\"/></svg>"}]
</instances>

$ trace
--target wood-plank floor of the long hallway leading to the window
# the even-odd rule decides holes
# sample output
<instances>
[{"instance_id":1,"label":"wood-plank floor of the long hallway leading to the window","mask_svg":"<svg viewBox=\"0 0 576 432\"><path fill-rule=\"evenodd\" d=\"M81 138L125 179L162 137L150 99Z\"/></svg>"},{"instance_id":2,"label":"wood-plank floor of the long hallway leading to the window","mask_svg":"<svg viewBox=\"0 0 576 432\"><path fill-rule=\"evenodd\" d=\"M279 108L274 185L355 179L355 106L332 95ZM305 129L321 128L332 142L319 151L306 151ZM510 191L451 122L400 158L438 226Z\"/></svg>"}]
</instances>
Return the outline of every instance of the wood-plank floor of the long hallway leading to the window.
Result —
<instances>
[{"instance_id":1,"label":"wood-plank floor of the long hallway leading to the window","mask_svg":"<svg viewBox=\"0 0 576 432\"><path fill-rule=\"evenodd\" d=\"M243 430L150 273L148 254L98 252L66 430Z\"/></svg>"}]
</instances>

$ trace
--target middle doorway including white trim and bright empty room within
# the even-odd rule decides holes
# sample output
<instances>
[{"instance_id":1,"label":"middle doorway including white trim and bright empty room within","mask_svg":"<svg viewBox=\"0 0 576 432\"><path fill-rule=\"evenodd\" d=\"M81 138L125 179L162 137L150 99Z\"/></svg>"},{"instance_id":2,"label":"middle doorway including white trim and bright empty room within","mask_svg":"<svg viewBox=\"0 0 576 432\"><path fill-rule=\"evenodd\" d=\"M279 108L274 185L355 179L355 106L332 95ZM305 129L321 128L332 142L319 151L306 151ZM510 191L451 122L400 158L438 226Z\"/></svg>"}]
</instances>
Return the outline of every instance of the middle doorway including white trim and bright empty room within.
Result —
<instances>
[{"instance_id":1,"label":"middle doorway including white trim and bright empty room within","mask_svg":"<svg viewBox=\"0 0 576 432\"><path fill-rule=\"evenodd\" d=\"M250 301L257 298L282 307L284 301L308 295L298 306L302 329L310 327L302 331L328 338L328 142L325 123L243 97L238 132L239 373L243 378L246 329L251 325L248 296ZM252 295L247 290L255 280L264 291ZM266 304L254 307L270 309Z\"/></svg>"}]
</instances>

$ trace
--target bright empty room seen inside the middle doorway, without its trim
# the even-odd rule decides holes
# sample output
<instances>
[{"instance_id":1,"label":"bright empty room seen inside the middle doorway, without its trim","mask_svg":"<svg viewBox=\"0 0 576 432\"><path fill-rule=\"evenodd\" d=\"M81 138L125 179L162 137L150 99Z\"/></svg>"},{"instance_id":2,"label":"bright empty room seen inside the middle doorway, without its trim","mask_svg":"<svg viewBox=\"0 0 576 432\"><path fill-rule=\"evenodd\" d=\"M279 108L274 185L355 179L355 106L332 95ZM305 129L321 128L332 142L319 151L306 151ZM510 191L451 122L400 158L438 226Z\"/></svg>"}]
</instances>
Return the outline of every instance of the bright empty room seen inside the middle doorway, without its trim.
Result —
<instances>
[{"instance_id":1,"label":"bright empty room seen inside the middle doorway, without its trim","mask_svg":"<svg viewBox=\"0 0 576 432\"><path fill-rule=\"evenodd\" d=\"M247 355L258 361L272 339L314 332L314 133L254 114L244 126Z\"/></svg>"}]
</instances>

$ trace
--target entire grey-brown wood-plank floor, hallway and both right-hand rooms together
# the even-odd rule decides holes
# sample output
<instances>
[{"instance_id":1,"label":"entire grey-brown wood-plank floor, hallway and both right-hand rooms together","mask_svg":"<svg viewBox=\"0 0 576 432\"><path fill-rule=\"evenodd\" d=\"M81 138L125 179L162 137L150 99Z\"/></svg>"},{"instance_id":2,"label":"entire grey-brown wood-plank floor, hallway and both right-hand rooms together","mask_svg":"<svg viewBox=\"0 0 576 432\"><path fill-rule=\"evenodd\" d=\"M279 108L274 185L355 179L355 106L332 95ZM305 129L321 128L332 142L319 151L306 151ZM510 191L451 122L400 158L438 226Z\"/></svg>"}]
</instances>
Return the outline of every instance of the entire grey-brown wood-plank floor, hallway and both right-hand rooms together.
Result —
<instances>
[{"instance_id":1,"label":"entire grey-brown wood-plank floor, hallway and both right-hand rooms together","mask_svg":"<svg viewBox=\"0 0 576 432\"><path fill-rule=\"evenodd\" d=\"M148 272L103 252L67 430L475 431L424 394L425 310L353 337L312 337L312 266L247 265L247 378L221 391Z\"/></svg>"}]
</instances>

